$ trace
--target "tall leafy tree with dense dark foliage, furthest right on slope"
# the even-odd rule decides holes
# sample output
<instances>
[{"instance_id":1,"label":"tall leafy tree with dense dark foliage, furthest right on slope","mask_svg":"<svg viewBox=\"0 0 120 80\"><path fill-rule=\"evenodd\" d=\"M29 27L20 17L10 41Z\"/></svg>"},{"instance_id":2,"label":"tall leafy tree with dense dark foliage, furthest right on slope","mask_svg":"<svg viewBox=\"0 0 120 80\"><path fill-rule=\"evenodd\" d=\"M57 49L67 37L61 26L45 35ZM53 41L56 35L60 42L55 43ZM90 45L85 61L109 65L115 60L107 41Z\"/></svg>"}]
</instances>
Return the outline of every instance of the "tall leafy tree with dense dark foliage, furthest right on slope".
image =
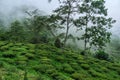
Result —
<instances>
[{"instance_id":1,"label":"tall leafy tree with dense dark foliage, furthest right on slope","mask_svg":"<svg viewBox=\"0 0 120 80\"><path fill-rule=\"evenodd\" d=\"M78 7L79 19L75 21L77 27L84 30L82 38L84 40L84 49L87 44L103 49L105 44L110 41L111 33L108 31L115 23L112 18L107 18L107 9L104 0L83 0Z\"/></svg>"}]
</instances>

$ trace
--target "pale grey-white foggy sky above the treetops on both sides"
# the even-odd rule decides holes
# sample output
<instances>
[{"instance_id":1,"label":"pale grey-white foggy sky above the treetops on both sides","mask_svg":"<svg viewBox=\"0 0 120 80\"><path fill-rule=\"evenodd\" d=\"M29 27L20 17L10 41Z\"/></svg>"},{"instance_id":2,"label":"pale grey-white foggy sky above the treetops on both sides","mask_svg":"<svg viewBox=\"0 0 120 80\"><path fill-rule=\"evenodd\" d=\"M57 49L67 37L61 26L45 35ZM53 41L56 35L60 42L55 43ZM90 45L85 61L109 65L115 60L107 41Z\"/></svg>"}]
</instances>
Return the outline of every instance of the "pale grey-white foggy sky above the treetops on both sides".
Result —
<instances>
[{"instance_id":1,"label":"pale grey-white foggy sky above the treetops on both sides","mask_svg":"<svg viewBox=\"0 0 120 80\"><path fill-rule=\"evenodd\" d=\"M111 31L114 35L119 35L120 0L106 0L105 5L108 8L108 16L117 20ZM51 3L48 3L48 0L0 0L0 19L3 19L7 23L11 19L23 17L23 11L28 10L28 8L38 8L45 14L51 14L52 10L58 6L58 0L53 0Z\"/></svg>"}]
</instances>

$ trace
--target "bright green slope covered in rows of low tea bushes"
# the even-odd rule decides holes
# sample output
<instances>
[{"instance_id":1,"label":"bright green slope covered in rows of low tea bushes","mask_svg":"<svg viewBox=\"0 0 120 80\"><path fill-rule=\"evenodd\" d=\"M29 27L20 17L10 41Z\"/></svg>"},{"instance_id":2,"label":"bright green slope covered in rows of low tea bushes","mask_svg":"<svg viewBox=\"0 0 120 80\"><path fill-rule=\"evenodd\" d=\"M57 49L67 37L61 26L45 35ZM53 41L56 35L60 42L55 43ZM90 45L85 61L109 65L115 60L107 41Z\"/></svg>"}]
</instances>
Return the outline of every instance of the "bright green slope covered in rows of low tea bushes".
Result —
<instances>
[{"instance_id":1,"label":"bright green slope covered in rows of low tea bushes","mask_svg":"<svg viewBox=\"0 0 120 80\"><path fill-rule=\"evenodd\" d=\"M48 44L1 41L0 80L120 80L120 65Z\"/></svg>"}]
</instances>

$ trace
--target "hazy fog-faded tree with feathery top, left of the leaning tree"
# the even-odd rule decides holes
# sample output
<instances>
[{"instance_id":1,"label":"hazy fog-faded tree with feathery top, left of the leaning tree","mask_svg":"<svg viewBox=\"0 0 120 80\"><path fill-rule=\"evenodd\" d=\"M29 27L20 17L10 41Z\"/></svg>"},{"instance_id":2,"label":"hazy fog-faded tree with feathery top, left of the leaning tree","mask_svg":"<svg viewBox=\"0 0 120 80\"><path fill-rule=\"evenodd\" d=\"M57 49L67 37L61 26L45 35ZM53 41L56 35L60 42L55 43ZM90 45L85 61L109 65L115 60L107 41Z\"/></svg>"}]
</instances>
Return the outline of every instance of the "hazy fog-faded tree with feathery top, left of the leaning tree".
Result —
<instances>
[{"instance_id":1,"label":"hazy fog-faded tree with feathery top, left of the leaning tree","mask_svg":"<svg viewBox=\"0 0 120 80\"><path fill-rule=\"evenodd\" d=\"M47 16L42 16L39 14L38 10L31 12L26 12L29 17L26 19L25 26L27 27L28 33L31 38L32 43L40 43L40 34L46 29Z\"/></svg>"}]
</instances>

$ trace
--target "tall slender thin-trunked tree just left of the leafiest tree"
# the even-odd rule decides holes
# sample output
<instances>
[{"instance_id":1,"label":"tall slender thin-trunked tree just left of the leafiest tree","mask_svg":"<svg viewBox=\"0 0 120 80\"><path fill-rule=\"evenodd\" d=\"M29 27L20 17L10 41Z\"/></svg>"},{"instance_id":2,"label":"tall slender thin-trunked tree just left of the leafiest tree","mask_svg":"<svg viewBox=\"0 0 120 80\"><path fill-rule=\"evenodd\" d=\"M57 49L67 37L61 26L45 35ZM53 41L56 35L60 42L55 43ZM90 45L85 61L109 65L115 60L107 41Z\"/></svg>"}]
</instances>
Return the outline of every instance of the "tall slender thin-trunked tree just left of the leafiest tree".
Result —
<instances>
[{"instance_id":1,"label":"tall slender thin-trunked tree just left of the leafiest tree","mask_svg":"<svg viewBox=\"0 0 120 80\"><path fill-rule=\"evenodd\" d=\"M78 4L79 0L59 0L60 7L54 10L56 16L58 16L58 20L61 26L65 27L64 34L64 42L63 47L66 46L66 42L68 40L69 29L70 27L74 27L74 15L76 14L76 4Z\"/></svg>"}]
</instances>

